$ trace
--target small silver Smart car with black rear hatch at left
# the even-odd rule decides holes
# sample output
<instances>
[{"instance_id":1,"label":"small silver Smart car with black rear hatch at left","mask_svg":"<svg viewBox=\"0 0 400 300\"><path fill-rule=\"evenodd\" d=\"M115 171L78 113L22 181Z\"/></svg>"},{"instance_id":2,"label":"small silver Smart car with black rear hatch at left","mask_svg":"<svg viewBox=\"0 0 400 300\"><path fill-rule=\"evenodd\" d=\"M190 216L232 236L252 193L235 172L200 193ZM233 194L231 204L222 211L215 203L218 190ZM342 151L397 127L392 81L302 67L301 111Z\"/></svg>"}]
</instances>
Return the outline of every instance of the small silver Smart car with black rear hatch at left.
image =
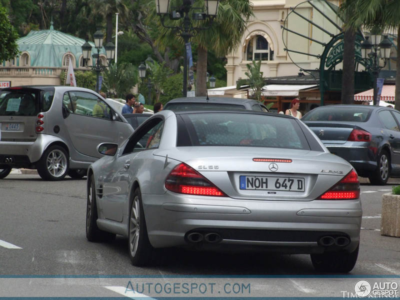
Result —
<instances>
[{"instance_id":1,"label":"small silver Smart car with black rear hatch at left","mask_svg":"<svg viewBox=\"0 0 400 300\"><path fill-rule=\"evenodd\" d=\"M45 180L86 175L101 142L121 144L133 129L97 93L70 86L16 86L0 92L0 178L37 169Z\"/></svg>"}]
</instances>

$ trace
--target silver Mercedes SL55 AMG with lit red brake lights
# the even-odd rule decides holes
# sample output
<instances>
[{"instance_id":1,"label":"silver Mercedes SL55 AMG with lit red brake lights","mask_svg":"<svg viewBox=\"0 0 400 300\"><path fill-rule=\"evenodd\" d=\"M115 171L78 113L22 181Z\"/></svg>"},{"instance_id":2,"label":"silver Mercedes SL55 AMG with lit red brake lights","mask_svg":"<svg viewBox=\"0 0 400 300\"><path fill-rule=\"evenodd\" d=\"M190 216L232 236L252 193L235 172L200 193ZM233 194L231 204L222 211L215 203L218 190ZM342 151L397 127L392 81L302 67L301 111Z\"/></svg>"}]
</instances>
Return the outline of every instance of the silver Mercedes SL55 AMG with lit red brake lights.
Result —
<instances>
[{"instance_id":1,"label":"silver Mercedes SL55 AMG with lit red brake lights","mask_svg":"<svg viewBox=\"0 0 400 300\"><path fill-rule=\"evenodd\" d=\"M86 236L128 238L135 266L154 248L310 254L350 272L360 242L357 173L300 120L252 111L164 110L88 170Z\"/></svg>"}]
</instances>

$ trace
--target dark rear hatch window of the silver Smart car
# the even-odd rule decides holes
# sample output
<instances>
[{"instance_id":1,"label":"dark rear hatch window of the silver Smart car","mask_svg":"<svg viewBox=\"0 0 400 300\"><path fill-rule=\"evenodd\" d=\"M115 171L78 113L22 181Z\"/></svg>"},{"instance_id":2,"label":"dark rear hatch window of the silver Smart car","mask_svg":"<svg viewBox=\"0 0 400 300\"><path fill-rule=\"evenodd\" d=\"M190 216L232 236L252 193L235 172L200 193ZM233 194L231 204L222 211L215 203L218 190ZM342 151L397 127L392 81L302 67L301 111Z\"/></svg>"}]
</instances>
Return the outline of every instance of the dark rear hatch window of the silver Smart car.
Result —
<instances>
[{"instance_id":1,"label":"dark rear hatch window of the silver Smart car","mask_svg":"<svg viewBox=\"0 0 400 300\"><path fill-rule=\"evenodd\" d=\"M12 90L0 93L0 116L36 116L39 113L39 91Z\"/></svg>"}]
</instances>

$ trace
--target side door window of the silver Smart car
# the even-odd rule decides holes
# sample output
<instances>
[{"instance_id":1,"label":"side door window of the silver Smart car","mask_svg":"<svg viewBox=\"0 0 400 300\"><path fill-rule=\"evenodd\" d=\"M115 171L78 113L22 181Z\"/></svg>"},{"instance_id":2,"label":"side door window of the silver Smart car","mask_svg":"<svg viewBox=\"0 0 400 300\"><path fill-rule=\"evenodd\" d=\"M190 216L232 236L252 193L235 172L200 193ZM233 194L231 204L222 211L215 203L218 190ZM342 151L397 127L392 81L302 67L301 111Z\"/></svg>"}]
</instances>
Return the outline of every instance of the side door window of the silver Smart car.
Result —
<instances>
[{"instance_id":1,"label":"side door window of the silver Smart car","mask_svg":"<svg viewBox=\"0 0 400 300\"><path fill-rule=\"evenodd\" d=\"M96 95L86 92L69 92L74 114L111 119L110 107ZM76 103L76 104L75 104ZM74 108L74 106L76 106Z\"/></svg>"}]
</instances>

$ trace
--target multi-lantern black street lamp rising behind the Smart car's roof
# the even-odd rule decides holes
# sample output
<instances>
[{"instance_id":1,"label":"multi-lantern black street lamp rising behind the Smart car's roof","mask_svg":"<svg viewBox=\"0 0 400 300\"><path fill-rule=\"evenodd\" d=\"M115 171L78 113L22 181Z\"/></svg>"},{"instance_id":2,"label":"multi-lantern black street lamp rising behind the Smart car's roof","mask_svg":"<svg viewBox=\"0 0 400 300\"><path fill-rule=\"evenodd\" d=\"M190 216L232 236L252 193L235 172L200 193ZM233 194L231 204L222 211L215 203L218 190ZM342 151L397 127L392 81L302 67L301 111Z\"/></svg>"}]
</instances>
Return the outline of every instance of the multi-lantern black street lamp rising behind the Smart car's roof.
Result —
<instances>
[{"instance_id":1,"label":"multi-lantern black street lamp rising behind the Smart car's roof","mask_svg":"<svg viewBox=\"0 0 400 300\"><path fill-rule=\"evenodd\" d=\"M94 72L96 72L96 92L98 93L100 90L100 83L99 83L99 78L100 78L100 72L104 71L105 66L102 65L101 60L100 60L100 50L103 48L103 37L104 34L100 30L97 30L94 33L94 47L97 50L97 53L93 54L92 57L96 59L96 64L94 66L90 66ZM115 55L115 47L112 42L108 42L106 46L104 47L106 49L106 58L108 60L108 64L110 64L110 61L114 58ZM89 42L85 42L82 45L82 55L83 58L88 61L90 58L90 54L92 53L92 45L89 44Z\"/></svg>"}]
</instances>

